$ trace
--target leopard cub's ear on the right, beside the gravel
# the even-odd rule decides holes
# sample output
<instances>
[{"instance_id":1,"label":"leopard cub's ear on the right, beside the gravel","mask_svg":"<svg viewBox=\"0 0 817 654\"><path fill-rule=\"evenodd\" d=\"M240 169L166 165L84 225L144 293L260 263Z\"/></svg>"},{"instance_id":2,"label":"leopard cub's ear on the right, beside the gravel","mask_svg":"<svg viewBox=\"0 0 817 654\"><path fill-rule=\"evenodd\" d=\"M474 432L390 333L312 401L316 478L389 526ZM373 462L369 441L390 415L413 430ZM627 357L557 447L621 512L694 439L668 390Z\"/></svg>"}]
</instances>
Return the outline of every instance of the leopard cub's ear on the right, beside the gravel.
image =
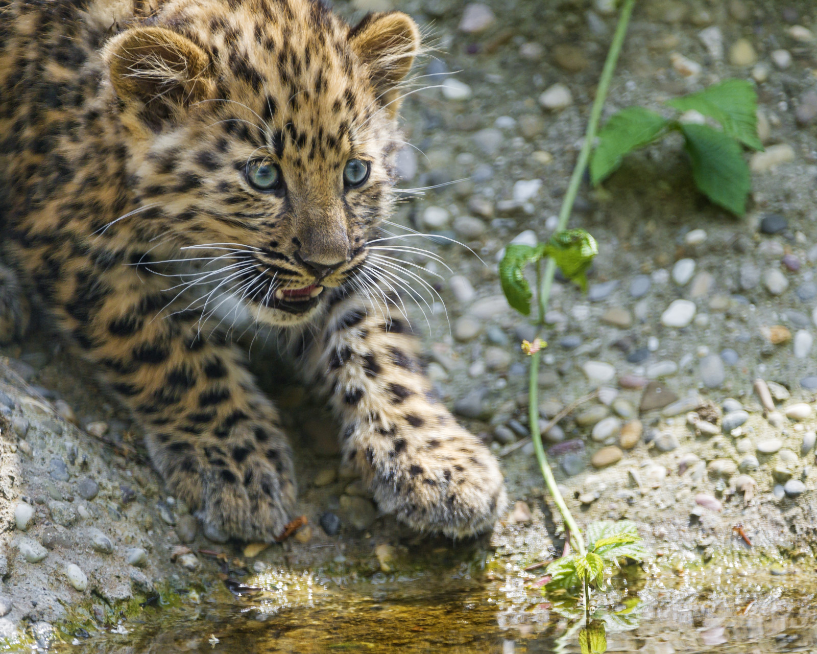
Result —
<instances>
[{"instance_id":1,"label":"leopard cub's ear on the right, beside the gravel","mask_svg":"<svg viewBox=\"0 0 817 654\"><path fill-rule=\"evenodd\" d=\"M369 14L350 29L352 50L368 65L378 101L391 116L400 109L400 89L420 52L420 29L402 11Z\"/></svg>"}]
</instances>

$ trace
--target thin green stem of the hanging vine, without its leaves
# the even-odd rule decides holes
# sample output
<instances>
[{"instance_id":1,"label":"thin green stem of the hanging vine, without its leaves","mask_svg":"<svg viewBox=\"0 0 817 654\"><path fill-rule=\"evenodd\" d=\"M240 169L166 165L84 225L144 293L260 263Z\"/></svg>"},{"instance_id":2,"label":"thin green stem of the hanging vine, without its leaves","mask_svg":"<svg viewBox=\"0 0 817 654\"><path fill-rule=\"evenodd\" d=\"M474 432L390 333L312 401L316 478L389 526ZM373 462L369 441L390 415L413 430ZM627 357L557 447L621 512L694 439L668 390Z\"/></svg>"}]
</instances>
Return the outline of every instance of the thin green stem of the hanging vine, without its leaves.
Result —
<instances>
[{"instance_id":1,"label":"thin green stem of the hanging vine, without its leaves","mask_svg":"<svg viewBox=\"0 0 817 654\"><path fill-rule=\"evenodd\" d=\"M559 212L559 224L556 227L557 231L565 229L570 217L570 212L573 210L573 204L578 193L578 187L582 183L584 170L587 168L587 161L590 159L590 151L592 150L593 141L596 140L596 130L599 125L601 117L601 109L605 104L607 92L609 90L610 81L613 78L618 55L621 53L621 47L624 43L624 36L627 34L627 25L632 16L632 7L636 0L624 0L624 5L621 14L618 16L618 25L616 25L615 34L613 36L613 43L610 43L610 49L605 60L605 67L601 72L599 86L596 91L596 99L593 101L592 110L590 112L590 122L587 124L587 134L584 138L582 150L579 152L578 161L573 171L573 176L570 177L565 199L562 202L561 210ZM552 258L547 259L544 275L542 275L542 263L536 262L536 288L538 296L538 325L540 328L545 324L545 312L547 311L547 303L550 300L551 287L553 284L553 275L556 273L556 262ZM553 477L553 471L547 463L547 456L545 449L542 446L542 435L539 432L539 402L538 402L538 376L539 376L539 357L541 352L533 352L530 361L530 378L529 378L529 426L531 439L534 442L534 451L536 452L536 459L539 463L539 468L542 470L542 477L547 485L547 490L550 491L556 507L559 508L559 513L565 521L565 526L569 529L571 539L578 551L579 556L584 556L585 546L582 532L579 530L573 515L570 513L565 498L559 492L556 486L556 478ZM584 585L585 605L590 605L590 590L587 583Z\"/></svg>"}]
</instances>

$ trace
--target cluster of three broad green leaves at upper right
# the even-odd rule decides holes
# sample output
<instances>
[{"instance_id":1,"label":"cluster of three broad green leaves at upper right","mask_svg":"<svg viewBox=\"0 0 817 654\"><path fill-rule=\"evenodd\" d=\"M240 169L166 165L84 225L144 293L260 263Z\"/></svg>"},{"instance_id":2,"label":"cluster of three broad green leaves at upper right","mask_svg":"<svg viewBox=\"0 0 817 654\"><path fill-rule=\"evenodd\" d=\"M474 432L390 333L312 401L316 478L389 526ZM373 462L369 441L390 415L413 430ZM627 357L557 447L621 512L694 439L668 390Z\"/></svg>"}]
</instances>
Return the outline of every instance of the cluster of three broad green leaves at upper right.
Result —
<instances>
[{"instance_id":1,"label":"cluster of three broad green leaves at upper right","mask_svg":"<svg viewBox=\"0 0 817 654\"><path fill-rule=\"evenodd\" d=\"M694 111L716 121L721 129L705 123L664 119L643 107L628 107L613 114L599 132L590 160L594 185L621 165L624 155L659 141L672 132L684 137L692 177L699 190L715 204L743 216L751 177L743 148L763 150L757 137L757 94L743 79L727 79L702 92L667 101L680 112Z\"/></svg>"}]
</instances>

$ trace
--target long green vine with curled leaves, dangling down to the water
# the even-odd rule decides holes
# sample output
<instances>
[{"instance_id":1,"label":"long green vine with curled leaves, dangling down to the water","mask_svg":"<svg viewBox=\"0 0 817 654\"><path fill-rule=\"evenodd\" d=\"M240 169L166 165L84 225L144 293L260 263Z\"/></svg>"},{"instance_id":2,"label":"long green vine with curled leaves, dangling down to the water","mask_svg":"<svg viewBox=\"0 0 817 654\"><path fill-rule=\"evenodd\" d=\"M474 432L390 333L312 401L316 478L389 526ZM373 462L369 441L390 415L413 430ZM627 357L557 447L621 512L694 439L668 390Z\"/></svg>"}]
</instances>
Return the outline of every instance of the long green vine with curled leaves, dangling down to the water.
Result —
<instances>
[{"instance_id":1,"label":"long green vine with curled leaves, dangling down to the water","mask_svg":"<svg viewBox=\"0 0 817 654\"><path fill-rule=\"evenodd\" d=\"M528 280L525 279L525 267L529 264L535 266L538 303L538 320L536 324L539 329L542 329L545 324L547 301L550 297L556 267L560 267L569 279L574 280L585 289L587 285L585 273L598 252L596 240L587 231L581 229L566 230L565 227L567 226L570 211L573 208L578 186L582 181L583 172L587 168L601 108L604 105L610 79L613 76L618 53L621 52L634 4L635 0L625 0L623 3L613 42L610 44L605 67L599 81L596 99L593 102L584 145L579 153L576 167L570 178L568 190L560 209L556 234L547 243L538 244L535 247L520 244L508 245L502 261L499 263L502 291L505 293L511 307L525 316L530 314L530 304L534 295ZM542 262L546 262L543 274ZM562 589L572 593L576 589L583 589L585 610L589 611L590 590L591 588L600 587L604 580L605 566L618 564L618 559L622 557L641 560L644 550L639 544L641 539L632 522L592 523L587 528L589 548L585 548L582 532L579 530L573 515L570 513L567 504L565 504L565 499L556 486L556 479L553 477L553 471L547 463L547 456L542 446L542 436L539 431L538 369L542 347L546 346L547 343L543 343L539 338L534 338L532 343L528 341L522 343L523 351L531 357L528 401L529 428L542 477L565 521L566 529L571 538L570 545L574 549L574 553L566 554L557 561L551 562L550 566L548 566L547 573L551 575L551 581L546 586L546 592Z\"/></svg>"}]
</instances>

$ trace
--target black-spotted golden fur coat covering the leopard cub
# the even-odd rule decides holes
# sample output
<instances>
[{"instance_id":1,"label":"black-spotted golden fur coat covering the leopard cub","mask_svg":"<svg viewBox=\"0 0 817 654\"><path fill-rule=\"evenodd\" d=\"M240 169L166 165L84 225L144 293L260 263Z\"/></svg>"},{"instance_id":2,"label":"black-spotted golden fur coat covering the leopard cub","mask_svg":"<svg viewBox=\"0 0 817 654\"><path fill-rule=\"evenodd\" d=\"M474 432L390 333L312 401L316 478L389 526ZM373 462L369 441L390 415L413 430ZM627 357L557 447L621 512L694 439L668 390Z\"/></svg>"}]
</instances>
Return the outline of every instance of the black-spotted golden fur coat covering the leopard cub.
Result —
<instances>
[{"instance_id":1,"label":"black-spotted golden fur coat covering the leopard cub","mask_svg":"<svg viewBox=\"0 0 817 654\"><path fill-rule=\"evenodd\" d=\"M279 416L225 329L239 315L291 344L384 511L461 536L504 508L496 460L373 292L418 47L400 12L350 28L310 0L0 0L3 256L212 530L272 540L296 495ZM279 188L249 183L258 158ZM0 340L28 320L16 284L0 268Z\"/></svg>"}]
</instances>

